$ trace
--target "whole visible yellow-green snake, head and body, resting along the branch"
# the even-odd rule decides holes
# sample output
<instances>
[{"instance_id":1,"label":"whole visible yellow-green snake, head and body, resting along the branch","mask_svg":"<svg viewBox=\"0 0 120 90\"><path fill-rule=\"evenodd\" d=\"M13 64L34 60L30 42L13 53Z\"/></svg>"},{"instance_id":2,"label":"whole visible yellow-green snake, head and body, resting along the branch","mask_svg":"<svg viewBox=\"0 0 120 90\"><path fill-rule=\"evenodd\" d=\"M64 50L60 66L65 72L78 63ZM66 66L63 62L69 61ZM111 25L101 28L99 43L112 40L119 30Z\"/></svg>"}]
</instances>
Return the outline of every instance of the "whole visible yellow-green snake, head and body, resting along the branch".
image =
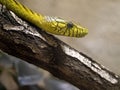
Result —
<instances>
[{"instance_id":1,"label":"whole visible yellow-green snake, head and body, resting along the branch","mask_svg":"<svg viewBox=\"0 0 120 90\"><path fill-rule=\"evenodd\" d=\"M7 9L14 12L20 18L34 24L46 32L70 37L83 37L88 33L88 29L76 23L58 17L38 14L16 0L0 0L0 3L5 5Z\"/></svg>"}]
</instances>

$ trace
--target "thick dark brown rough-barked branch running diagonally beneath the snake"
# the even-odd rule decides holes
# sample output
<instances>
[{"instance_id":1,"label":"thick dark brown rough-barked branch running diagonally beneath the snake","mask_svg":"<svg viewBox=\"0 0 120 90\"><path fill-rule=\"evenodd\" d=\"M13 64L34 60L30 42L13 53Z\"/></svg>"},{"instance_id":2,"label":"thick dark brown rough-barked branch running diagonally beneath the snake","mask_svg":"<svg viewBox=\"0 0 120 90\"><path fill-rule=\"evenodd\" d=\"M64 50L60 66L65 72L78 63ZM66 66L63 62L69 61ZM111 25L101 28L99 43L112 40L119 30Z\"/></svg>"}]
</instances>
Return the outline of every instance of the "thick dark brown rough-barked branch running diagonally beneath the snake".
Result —
<instances>
[{"instance_id":1,"label":"thick dark brown rough-barked branch running diagonally beneath the snake","mask_svg":"<svg viewBox=\"0 0 120 90\"><path fill-rule=\"evenodd\" d=\"M81 90L120 90L119 76L5 8L0 11L0 49Z\"/></svg>"}]
</instances>

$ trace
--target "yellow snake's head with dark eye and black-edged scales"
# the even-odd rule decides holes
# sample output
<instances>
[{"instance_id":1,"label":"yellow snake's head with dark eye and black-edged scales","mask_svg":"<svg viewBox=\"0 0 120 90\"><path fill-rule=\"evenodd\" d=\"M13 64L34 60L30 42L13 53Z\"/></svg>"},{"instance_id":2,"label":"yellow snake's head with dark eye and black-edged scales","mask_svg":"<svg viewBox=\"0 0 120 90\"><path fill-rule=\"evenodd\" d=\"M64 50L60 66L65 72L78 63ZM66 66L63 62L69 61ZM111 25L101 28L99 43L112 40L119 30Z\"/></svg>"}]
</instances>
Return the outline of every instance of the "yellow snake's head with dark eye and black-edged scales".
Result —
<instances>
[{"instance_id":1,"label":"yellow snake's head with dark eye and black-edged scales","mask_svg":"<svg viewBox=\"0 0 120 90\"><path fill-rule=\"evenodd\" d=\"M88 29L58 17L45 16L43 21L43 29L52 34L70 37L83 37L88 33Z\"/></svg>"}]
</instances>

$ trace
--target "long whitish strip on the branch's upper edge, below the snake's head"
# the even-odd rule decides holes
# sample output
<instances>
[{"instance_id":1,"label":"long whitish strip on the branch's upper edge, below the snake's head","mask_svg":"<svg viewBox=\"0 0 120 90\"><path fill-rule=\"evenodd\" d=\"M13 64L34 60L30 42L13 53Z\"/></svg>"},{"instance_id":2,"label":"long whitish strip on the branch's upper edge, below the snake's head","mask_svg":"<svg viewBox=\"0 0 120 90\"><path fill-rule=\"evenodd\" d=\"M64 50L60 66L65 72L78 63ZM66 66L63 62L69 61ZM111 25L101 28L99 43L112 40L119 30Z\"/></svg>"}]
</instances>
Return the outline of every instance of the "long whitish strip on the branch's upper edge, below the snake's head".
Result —
<instances>
[{"instance_id":1,"label":"long whitish strip on the branch's upper edge, below the snake's head","mask_svg":"<svg viewBox=\"0 0 120 90\"><path fill-rule=\"evenodd\" d=\"M107 81L111 82L112 84L118 83L118 76L111 76L110 73L104 70L104 68L100 65L98 65L95 62L90 61L88 58L82 56L78 51L71 49L70 47L66 45L61 45L64 52L67 55L70 55L74 58L77 58L80 60L83 64L85 64L87 67L89 67L91 70L99 74L102 78L106 79Z\"/></svg>"}]
</instances>

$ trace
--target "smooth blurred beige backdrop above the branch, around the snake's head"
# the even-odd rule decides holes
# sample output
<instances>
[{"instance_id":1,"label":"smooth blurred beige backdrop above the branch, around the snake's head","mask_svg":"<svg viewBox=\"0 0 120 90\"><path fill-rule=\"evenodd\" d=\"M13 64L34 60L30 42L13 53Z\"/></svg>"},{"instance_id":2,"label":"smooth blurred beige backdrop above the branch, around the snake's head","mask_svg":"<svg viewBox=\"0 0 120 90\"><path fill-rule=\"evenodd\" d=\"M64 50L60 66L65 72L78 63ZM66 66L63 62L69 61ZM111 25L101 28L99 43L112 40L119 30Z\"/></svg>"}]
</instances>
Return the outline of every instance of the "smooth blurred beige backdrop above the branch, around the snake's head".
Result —
<instances>
[{"instance_id":1,"label":"smooth blurred beige backdrop above the branch, around the snake's head","mask_svg":"<svg viewBox=\"0 0 120 90\"><path fill-rule=\"evenodd\" d=\"M19 0L32 10L80 23L84 38L57 36L80 52L120 74L119 0Z\"/></svg>"}]
</instances>

